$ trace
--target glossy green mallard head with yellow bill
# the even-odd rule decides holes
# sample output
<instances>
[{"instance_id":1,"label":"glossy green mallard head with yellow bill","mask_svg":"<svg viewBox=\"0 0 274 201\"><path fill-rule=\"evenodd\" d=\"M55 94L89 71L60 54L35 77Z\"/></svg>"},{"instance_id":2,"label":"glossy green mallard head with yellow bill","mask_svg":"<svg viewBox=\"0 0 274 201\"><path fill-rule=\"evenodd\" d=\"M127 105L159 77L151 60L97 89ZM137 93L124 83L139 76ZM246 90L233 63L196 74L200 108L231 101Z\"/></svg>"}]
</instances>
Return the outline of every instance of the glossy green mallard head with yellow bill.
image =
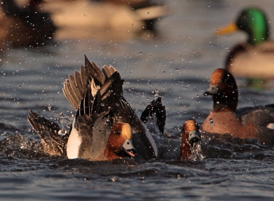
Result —
<instances>
[{"instance_id":1,"label":"glossy green mallard head with yellow bill","mask_svg":"<svg viewBox=\"0 0 274 201\"><path fill-rule=\"evenodd\" d=\"M230 23L217 31L216 34L229 34L236 30L245 31L251 45L269 40L269 25L264 12L258 8L248 8L240 12L236 22Z\"/></svg>"}]
</instances>

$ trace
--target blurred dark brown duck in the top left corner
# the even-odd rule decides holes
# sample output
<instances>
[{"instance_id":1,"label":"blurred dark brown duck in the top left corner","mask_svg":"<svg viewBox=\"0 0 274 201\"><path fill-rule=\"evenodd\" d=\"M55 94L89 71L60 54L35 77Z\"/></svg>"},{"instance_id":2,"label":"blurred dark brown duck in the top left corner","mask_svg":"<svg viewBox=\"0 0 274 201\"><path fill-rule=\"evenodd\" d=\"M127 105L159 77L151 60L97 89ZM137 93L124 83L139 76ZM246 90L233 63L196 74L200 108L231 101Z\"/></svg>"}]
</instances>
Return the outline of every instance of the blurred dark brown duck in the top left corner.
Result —
<instances>
[{"instance_id":1,"label":"blurred dark brown duck in the top left corner","mask_svg":"<svg viewBox=\"0 0 274 201\"><path fill-rule=\"evenodd\" d=\"M18 7L14 0L1 1L1 48L38 46L51 40L56 30L49 13L36 8L40 0Z\"/></svg>"}]
</instances>

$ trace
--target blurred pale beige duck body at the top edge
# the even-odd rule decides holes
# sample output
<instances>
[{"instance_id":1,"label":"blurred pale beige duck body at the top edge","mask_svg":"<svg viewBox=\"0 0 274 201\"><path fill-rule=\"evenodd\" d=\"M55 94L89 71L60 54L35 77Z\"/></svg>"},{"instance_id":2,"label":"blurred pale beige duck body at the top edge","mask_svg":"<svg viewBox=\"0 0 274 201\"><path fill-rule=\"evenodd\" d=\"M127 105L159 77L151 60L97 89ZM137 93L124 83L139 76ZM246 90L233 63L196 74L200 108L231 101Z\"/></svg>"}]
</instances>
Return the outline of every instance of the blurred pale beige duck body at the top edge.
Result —
<instances>
[{"instance_id":1,"label":"blurred pale beige duck body at the top edge","mask_svg":"<svg viewBox=\"0 0 274 201\"><path fill-rule=\"evenodd\" d=\"M169 14L165 5L156 2L48 0L41 6L51 12L51 18L59 28L55 39L115 40L140 36L145 30L150 31L146 35L155 36L155 22Z\"/></svg>"}]
</instances>

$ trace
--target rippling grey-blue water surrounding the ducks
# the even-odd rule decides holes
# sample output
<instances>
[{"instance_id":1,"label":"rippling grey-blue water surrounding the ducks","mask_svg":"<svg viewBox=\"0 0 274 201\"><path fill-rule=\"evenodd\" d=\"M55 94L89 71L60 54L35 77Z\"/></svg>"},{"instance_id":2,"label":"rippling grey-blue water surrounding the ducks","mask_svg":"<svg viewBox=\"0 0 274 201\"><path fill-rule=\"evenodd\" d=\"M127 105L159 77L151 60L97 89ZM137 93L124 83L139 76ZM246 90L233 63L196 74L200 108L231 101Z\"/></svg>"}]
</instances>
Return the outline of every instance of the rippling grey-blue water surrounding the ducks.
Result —
<instances>
[{"instance_id":1,"label":"rippling grey-blue water surrounding the ducks","mask_svg":"<svg viewBox=\"0 0 274 201\"><path fill-rule=\"evenodd\" d=\"M195 118L202 124L212 109L211 98L203 96L212 71L223 67L233 44L245 40L245 34L215 38L212 33L232 21L241 8L256 2L170 0L166 3L172 14L158 22L157 40L68 38L1 55L1 198L273 200L273 147L258 144L256 139L204 135L201 148L206 159L201 161L68 160L43 155L26 118L28 109L59 124L60 111L73 116L62 83L84 64L86 54L96 64L111 64L119 70L125 79L124 96L138 115L159 90L166 106L166 135L178 142L176 133L186 119ZM260 1L260 8L274 22L273 2ZM242 79L237 82L239 107L273 103L273 82L266 90L247 88Z\"/></svg>"}]
</instances>

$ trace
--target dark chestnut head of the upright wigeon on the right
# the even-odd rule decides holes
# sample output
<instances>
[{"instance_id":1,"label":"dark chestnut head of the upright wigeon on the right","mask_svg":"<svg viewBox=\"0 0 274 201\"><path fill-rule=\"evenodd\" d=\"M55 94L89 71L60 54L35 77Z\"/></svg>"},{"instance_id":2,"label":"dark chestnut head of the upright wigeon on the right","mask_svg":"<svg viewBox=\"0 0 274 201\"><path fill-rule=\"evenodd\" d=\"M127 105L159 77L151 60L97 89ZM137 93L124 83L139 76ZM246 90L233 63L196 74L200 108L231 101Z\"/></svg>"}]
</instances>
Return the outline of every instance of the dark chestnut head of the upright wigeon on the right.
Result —
<instances>
[{"instance_id":1,"label":"dark chestnut head of the upright wigeon on the right","mask_svg":"<svg viewBox=\"0 0 274 201\"><path fill-rule=\"evenodd\" d=\"M212 72L210 86L203 95L212 96L212 112L236 111L238 104L237 84L232 74L223 68Z\"/></svg>"}]
</instances>

